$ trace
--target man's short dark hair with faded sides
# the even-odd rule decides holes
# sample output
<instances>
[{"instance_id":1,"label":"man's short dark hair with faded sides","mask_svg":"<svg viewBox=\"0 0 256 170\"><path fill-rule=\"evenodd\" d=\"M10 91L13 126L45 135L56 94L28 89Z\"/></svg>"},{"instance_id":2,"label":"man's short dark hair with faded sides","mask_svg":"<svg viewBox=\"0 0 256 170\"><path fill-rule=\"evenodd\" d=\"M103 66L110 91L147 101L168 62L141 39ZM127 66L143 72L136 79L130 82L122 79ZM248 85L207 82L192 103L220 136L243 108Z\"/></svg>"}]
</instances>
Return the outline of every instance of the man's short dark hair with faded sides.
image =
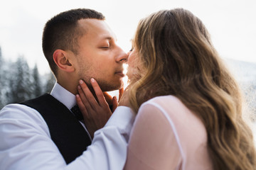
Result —
<instances>
[{"instance_id":1,"label":"man's short dark hair with faded sides","mask_svg":"<svg viewBox=\"0 0 256 170\"><path fill-rule=\"evenodd\" d=\"M88 8L78 8L59 13L46 23L42 38L43 54L55 75L57 65L53 61L53 52L60 49L71 50L77 54L78 38L84 34L84 30L78 27L78 21L85 18L105 20L102 13Z\"/></svg>"}]
</instances>

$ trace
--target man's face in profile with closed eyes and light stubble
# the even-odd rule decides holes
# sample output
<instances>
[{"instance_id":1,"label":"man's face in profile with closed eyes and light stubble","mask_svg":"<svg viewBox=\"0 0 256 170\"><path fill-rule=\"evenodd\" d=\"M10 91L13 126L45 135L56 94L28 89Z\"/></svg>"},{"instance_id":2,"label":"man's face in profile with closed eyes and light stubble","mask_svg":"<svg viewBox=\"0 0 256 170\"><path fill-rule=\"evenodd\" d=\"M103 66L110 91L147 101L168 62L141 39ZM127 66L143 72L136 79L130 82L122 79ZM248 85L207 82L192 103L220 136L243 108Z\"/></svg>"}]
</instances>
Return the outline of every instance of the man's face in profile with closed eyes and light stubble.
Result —
<instances>
[{"instance_id":1,"label":"man's face in profile with closed eyes and light stubble","mask_svg":"<svg viewBox=\"0 0 256 170\"><path fill-rule=\"evenodd\" d=\"M107 23L97 19L78 21L85 34L78 38L77 72L79 79L90 86L90 79L96 79L102 91L122 87L125 53L117 44L114 33Z\"/></svg>"}]
</instances>

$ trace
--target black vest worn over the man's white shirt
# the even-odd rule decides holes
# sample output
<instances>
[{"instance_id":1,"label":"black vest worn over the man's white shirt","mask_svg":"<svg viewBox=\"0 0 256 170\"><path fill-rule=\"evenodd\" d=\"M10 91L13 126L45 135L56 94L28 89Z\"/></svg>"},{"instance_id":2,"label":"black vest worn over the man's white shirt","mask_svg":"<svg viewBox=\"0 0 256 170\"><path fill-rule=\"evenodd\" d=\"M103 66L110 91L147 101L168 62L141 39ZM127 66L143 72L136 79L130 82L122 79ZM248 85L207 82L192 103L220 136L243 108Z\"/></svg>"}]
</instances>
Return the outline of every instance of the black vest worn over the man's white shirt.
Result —
<instances>
[{"instance_id":1,"label":"black vest worn over the man's white shirt","mask_svg":"<svg viewBox=\"0 0 256 170\"><path fill-rule=\"evenodd\" d=\"M46 121L50 137L69 164L91 144L90 137L73 113L50 94L21 103L36 109Z\"/></svg>"}]
</instances>

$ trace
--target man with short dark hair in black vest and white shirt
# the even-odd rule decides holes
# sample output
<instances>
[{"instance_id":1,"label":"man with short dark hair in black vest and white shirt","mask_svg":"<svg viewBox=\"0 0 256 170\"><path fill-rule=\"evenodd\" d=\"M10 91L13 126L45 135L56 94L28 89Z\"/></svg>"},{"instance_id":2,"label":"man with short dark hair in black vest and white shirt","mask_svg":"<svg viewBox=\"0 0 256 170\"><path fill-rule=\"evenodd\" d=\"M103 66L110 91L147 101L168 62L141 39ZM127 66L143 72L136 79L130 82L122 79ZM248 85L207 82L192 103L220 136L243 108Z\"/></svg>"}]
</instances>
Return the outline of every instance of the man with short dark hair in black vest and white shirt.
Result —
<instances>
[{"instance_id":1,"label":"man with short dark hair in black vest and white shirt","mask_svg":"<svg viewBox=\"0 0 256 170\"><path fill-rule=\"evenodd\" d=\"M110 118L108 108L107 114L92 118L102 124L110 118L95 132L103 125L71 112L80 79L90 89L92 77L102 91L122 87L127 54L104 20L97 11L75 9L46 23L43 52L57 83L50 94L1 110L0 169L122 169L133 115Z\"/></svg>"}]
</instances>

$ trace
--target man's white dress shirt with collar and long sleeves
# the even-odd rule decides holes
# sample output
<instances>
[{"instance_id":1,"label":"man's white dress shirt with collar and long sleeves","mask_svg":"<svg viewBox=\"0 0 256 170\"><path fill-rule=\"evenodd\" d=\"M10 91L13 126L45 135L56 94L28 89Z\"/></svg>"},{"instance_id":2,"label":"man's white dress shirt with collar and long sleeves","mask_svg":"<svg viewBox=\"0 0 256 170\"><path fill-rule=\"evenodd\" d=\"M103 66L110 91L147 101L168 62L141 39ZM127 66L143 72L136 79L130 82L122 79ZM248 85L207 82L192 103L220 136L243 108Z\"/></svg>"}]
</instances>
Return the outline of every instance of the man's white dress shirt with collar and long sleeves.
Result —
<instances>
[{"instance_id":1,"label":"man's white dress shirt with collar and long sleeves","mask_svg":"<svg viewBox=\"0 0 256 170\"><path fill-rule=\"evenodd\" d=\"M75 96L59 84L51 95L69 109L75 105ZM67 165L41 114L21 104L7 105L0 111L0 169L122 169L133 122L130 108L117 107L105 127L95 132L92 145Z\"/></svg>"}]
</instances>

